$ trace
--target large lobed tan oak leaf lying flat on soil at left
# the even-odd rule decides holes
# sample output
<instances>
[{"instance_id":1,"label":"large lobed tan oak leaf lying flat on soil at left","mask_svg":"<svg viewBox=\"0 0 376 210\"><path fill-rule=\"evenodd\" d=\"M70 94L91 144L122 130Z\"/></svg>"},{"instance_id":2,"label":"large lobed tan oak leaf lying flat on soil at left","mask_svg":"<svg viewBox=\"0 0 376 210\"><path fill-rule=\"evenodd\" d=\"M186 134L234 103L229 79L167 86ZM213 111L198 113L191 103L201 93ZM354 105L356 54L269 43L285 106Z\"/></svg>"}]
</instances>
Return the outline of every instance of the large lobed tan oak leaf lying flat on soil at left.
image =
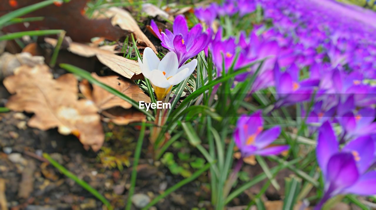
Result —
<instances>
[{"instance_id":1,"label":"large lobed tan oak leaf lying flat on soil at left","mask_svg":"<svg viewBox=\"0 0 376 210\"><path fill-rule=\"evenodd\" d=\"M61 134L76 135L86 149L98 151L102 146L105 136L97 107L92 101L78 100L74 75L65 74L54 80L46 65L23 65L3 83L14 94L6 107L35 114L28 122L30 127L58 127Z\"/></svg>"}]
</instances>

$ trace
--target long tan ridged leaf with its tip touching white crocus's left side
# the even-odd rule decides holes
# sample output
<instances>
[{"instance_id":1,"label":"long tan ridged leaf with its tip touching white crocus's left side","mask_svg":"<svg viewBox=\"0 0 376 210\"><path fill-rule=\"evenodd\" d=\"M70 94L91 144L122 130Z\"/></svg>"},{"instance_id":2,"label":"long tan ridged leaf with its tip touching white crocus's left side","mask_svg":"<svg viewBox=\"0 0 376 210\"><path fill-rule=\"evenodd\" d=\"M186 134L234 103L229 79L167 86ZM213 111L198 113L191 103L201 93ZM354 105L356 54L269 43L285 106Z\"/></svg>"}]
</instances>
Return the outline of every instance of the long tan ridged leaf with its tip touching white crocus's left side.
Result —
<instances>
[{"instance_id":1,"label":"long tan ridged leaf with its tip touching white crocus's left side","mask_svg":"<svg viewBox=\"0 0 376 210\"><path fill-rule=\"evenodd\" d=\"M45 38L44 40L53 46L57 43L56 39ZM115 53L117 53L117 51L108 50L108 47L96 48L81 43L71 42L68 51L83 57L92 57L95 55L103 65L106 65L112 71L128 79L138 80L144 77L138 66L138 62L116 55Z\"/></svg>"}]
</instances>

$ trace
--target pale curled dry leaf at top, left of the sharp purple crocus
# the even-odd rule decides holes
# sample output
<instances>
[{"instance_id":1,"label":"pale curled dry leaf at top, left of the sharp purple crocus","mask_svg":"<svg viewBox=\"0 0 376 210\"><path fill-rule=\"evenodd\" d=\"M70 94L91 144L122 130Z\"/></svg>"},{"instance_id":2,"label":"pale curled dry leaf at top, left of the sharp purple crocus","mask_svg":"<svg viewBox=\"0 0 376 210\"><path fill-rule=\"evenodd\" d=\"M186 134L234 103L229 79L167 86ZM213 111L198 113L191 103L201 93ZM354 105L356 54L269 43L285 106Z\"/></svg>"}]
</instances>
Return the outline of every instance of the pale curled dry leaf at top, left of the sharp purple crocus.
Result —
<instances>
[{"instance_id":1,"label":"pale curled dry leaf at top, left of the sharp purple crocus","mask_svg":"<svg viewBox=\"0 0 376 210\"><path fill-rule=\"evenodd\" d=\"M158 53L153 43L146 37L128 11L118 7L111 7L105 12L105 14L108 17L112 17L112 25L118 25L123 30L132 31L140 45L148 46L152 48L155 53Z\"/></svg>"}]
</instances>

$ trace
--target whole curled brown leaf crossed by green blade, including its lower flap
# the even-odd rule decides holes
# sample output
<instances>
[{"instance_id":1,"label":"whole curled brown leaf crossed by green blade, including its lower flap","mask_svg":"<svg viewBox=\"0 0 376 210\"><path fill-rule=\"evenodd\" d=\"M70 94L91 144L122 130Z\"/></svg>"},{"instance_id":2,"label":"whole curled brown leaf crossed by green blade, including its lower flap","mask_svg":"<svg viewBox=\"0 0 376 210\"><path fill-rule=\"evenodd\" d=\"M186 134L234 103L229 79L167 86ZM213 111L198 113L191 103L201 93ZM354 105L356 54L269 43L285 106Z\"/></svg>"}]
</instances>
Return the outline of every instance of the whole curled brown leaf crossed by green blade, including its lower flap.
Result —
<instances>
[{"instance_id":1,"label":"whole curled brown leaf crossed by green blade, including its lower flap","mask_svg":"<svg viewBox=\"0 0 376 210\"><path fill-rule=\"evenodd\" d=\"M96 80L111 86L126 96L129 96L134 101L144 101L149 103L150 98L147 96L135 83L123 80L117 76L99 77L97 74L92 73L92 77ZM123 99L109 93L108 91L93 85L91 90L88 81L83 80L79 84L81 93L86 99L89 99L97 105L99 110L106 118L106 122L113 122L118 125L126 125L135 121L142 121L146 117L143 113L133 110L132 105Z\"/></svg>"}]
</instances>

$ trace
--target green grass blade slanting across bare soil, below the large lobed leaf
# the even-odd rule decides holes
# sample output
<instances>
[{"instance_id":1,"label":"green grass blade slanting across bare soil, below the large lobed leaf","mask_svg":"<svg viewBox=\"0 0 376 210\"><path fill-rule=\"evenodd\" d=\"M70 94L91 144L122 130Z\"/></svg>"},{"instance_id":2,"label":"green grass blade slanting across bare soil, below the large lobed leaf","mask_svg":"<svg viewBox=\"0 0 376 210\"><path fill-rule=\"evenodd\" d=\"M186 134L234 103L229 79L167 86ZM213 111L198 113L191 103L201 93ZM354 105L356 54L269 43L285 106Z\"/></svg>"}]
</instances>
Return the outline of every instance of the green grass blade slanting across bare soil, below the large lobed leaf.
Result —
<instances>
[{"instance_id":1,"label":"green grass blade slanting across bare soil, below the large lobed leaf","mask_svg":"<svg viewBox=\"0 0 376 210\"><path fill-rule=\"evenodd\" d=\"M92 186L90 186L88 183L83 181L82 179L78 178L76 175L72 174L70 171L68 171L64 166L60 165L58 162L56 162L52 157L47 154L43 153L43 157L47 159L56 169L58 169L62 174L66 175L68 178L71 178L73 181L75 181L77 184L82 186L85 190L88 190L92 195L94 195L96 198L98 198L100 201L103 202L103 204L106 205L106 207L109 210L112 210L112 206L110 202L101 195L96 189L94 189Z\"/></svg>"}]
</instances>

